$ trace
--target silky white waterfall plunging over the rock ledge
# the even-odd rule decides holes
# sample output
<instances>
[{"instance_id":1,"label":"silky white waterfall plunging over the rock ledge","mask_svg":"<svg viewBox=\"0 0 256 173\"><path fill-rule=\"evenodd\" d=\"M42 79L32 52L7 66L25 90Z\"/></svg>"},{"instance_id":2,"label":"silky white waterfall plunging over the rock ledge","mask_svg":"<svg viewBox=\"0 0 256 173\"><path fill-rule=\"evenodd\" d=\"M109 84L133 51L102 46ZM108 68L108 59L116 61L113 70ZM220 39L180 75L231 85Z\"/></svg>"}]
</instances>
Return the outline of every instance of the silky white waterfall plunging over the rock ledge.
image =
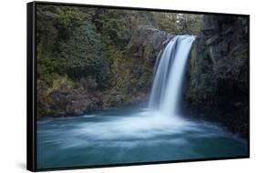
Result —
<instances>
[{"instance_id":1,"label":"silky white waterfall plunging over the rock ledge","mask_svg":"<svg viewBox=\"0 0 256 173\"><path fill-rule=\"evenodd\" d=\"M148 107L161 115L177 115L186 62L195 36L175 36L164 48L156 66Z\"/></svg>"}]
</instances>

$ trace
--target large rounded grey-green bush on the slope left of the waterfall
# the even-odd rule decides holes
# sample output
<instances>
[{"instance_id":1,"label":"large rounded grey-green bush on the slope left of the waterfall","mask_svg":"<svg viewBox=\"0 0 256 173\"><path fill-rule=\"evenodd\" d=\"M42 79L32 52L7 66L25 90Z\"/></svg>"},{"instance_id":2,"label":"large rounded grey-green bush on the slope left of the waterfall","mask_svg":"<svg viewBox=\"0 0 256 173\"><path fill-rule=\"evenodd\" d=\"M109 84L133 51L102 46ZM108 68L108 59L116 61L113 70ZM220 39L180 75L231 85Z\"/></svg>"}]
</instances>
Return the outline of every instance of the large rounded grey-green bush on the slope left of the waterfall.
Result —
<instances>
[{"instance_id":1,"label":"large rounded grey-green bush on the slope left of the waterfall","mask_svg":"<svg viewBox=\"0 0 256 173\"><path fill-rule=\"evenodd\" d=\"M95 76L102 83L108 77L108 59L104 45L92 24L84 24L74 31L73 36L60 46L60 73L80 78Z\"/></svg>"}]
</instances>

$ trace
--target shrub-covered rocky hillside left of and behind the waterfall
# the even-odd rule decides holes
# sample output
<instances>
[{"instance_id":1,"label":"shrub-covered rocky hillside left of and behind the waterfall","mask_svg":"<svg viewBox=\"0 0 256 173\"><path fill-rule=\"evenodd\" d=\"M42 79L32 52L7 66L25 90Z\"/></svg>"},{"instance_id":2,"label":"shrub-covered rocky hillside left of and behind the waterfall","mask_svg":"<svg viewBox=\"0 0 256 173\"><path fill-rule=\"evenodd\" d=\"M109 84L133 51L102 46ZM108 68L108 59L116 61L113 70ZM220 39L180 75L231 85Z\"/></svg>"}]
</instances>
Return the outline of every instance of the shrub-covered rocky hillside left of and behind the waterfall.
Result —
<instances>
[{"instance_id":1,"label":"shrub-covered rocky hillside left of and behind the waterfall","mask_svg":"<svg viewBox=\"0 0 256 173\"><path fill-rule=\"evenodd\" d=\"M134 32L143 25L172 35L200 30L200 15L136 10L37 5L36 18L38 117L145 99L156 52L144 36L139 57L128 54ZM80 95L89 104L78 103Z\"/></svg>"}]
</instances>

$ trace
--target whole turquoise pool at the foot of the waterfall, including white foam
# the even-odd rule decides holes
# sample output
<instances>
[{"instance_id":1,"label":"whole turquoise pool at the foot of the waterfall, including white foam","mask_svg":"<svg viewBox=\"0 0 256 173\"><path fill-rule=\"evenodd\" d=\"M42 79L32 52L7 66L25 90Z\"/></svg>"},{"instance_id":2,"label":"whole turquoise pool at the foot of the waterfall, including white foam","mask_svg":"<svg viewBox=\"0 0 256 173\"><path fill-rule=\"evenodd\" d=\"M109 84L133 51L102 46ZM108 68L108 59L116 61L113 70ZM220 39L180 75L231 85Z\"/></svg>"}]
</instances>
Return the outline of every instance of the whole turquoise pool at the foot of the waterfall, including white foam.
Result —
<instances>
[{"instance_id":1,"label":"whole turquoise pool at the foot of the waterfall, including white foam","mask_svg":"<svg viewBox=\"0 0 256 173\"><path fill-rule=\"evenodd\" d=\"M247 155L247 141L220 126L143 108L37 120L37 168Z\"/></svg>"}]
</instances>

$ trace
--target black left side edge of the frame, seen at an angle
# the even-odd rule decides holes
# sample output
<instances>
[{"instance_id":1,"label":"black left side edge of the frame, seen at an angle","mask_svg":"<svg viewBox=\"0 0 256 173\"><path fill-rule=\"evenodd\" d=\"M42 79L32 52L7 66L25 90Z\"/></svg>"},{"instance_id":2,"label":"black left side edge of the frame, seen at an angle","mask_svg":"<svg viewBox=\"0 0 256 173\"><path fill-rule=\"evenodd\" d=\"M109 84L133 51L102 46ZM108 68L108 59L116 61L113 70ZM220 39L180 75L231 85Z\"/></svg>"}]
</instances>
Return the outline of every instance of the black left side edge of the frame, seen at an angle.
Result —
<instances>
[{"instance_id":1,"label":"black left side edge of the frame, seen at an angle","mask_svg":"<svg viewBox=\"0 0 256 173\"><path fill-rule=\"evenodd\" d=\"M35 2L26 4L26 169L36 171L35 149Z\"/></svg>"}]
</instances>

